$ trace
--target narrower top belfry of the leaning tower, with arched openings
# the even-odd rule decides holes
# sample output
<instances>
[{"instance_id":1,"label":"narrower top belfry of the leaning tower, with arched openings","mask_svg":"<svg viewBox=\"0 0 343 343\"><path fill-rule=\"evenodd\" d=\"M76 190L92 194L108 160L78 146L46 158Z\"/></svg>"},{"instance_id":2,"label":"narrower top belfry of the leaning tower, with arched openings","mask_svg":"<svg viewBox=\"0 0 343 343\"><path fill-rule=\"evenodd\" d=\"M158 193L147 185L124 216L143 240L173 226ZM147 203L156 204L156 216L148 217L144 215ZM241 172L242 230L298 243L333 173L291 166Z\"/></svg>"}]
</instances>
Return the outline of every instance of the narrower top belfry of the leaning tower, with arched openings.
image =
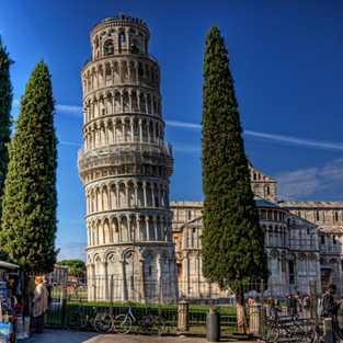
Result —
<instances>
[{"instance_id":1,"label":"narrower top belfry of the leaning tower, with arched openings","mask_svg":"<svg viewBox=\"0 0 343 343\"><path fill-rule=\"evenodd\" d=\"M150 32L145 21L126 14L98 22L90 34L93 60L121 54L148 55Z\"/></svg>"}]
</instances>

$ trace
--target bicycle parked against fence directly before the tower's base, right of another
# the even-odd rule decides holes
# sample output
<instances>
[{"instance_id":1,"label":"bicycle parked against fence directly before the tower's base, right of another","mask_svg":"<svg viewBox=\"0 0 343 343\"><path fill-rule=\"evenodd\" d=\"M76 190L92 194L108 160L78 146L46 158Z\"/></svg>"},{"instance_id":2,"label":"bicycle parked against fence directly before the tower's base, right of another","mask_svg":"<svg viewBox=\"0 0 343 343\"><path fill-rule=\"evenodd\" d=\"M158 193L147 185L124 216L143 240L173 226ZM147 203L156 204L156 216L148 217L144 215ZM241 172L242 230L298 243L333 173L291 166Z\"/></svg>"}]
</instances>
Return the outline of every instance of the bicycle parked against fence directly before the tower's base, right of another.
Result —
<instances>
[{"instance_id":1,"label":"bicycle parked against fence directly before the tower's base, right of another","mask_svg":"<svg viewBox=\"0 0 343 343\"><path fill-rule=\"evenodd\" d=\"M133 329L133 322L137 322L137 329L146 331L150 335L161 335L165 329L165 320L159 315L149 315L150 308L146 308L146 313L141 320L137 321L133 313L134 302L128 301L128 310L126 313L116 316L113 320L113 330L116 333L126 334Z\"/></svg>"}]
</instances>

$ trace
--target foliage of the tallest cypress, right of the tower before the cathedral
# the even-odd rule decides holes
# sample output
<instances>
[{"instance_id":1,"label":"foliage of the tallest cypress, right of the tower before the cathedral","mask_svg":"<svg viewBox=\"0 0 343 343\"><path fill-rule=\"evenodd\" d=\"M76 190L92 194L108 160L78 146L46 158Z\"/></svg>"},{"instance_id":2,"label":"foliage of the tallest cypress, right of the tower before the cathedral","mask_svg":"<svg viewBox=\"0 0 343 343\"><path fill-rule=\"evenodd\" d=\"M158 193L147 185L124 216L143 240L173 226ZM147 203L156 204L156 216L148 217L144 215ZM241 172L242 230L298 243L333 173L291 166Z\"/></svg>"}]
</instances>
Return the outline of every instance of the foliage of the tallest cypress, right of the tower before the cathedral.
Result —
<instances>
[{"instance_id":1,"label":"foliage of the tallest cypress, right of the tower before the cathedral","mask_svg":"<svg viewBox=\"0 0 343 343\"><path fill-rule=\"evenodd\" d=\"M203 274L222 289L267 279L267 258L224 38L207 34L203 85Z\"/></svg>"}]
</instances>

